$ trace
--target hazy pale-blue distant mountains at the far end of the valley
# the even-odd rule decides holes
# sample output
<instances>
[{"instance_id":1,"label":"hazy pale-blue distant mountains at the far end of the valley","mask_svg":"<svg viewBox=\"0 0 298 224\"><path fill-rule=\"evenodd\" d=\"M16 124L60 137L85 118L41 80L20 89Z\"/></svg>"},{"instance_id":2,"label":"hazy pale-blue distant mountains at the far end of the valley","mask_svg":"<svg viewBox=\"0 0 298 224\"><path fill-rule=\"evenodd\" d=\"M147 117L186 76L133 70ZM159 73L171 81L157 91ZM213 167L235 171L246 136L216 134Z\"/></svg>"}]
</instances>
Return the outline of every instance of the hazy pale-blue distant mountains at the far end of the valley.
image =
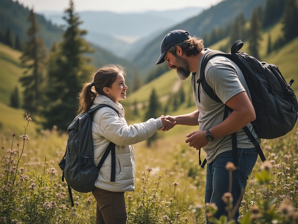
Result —
<instances>
[{"instance_id":1,"label":"hazy pale-blue distant mountains at the far end of the valley","mask_svg":"<svg viewBox=\"0 0 298 224\"><path fill-rule=\"evenodd\" d=\"M130 57L144 47L150 39L174 24L198 15L203 8L193 7L164 12L113 13L107 11L78 12L82 29L88 31L86 40L120 57ZM63 13L44 11L52 23L64 24ZM177 16L181 15L181 16ZM137 42L138 40L143 40Z\"/></svg>"}]
</instances>

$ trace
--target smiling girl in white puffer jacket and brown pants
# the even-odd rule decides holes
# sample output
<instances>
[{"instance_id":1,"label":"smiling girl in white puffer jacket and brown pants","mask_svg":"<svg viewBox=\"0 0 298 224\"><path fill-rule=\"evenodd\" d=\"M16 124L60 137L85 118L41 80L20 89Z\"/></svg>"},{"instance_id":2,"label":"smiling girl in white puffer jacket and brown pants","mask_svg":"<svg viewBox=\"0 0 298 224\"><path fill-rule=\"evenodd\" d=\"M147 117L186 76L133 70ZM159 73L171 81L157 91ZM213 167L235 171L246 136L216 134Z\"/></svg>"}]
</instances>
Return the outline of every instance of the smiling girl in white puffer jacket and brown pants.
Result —
<instances>
[{"instance_id":1,"label":"smiling girl in white puffer jacket and brown pants","mask_svg":"<svg viewBox=\"0 0 298 224\"><path fill-rule=\"evenodd\" d=\"M125 111L118 102L124 100L127 86L125 70L121 65L106 65L94 75L94 81L84 85L79 99L79 113L87 112L99 104L103 107L94 112L92 139L94 163L97 165L110 142L116 151L116 177L111 182L111 154L105 159L92 191L96 199L96 224L126 223L125 191L134 191L135 160L132 144L151 137L156 130L170 127L170 121L160 117L146 122L128 125ZM173 125L173 124L172 124Z\"/></svg>"}]
</instances>

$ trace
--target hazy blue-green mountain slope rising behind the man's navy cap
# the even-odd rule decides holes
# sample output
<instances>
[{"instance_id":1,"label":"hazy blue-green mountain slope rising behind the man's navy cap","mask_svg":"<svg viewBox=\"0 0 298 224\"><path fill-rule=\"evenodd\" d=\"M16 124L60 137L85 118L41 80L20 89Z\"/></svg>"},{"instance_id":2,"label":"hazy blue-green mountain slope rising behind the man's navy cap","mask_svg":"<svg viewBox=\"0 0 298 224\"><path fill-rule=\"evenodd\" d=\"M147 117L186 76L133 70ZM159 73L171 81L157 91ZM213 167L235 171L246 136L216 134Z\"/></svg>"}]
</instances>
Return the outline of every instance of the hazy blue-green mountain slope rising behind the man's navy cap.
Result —
<instances>
[{"instance_id":1,"label":"hazy blue-green mountain slope rising behind the man's navy cap","mask_svg":"<svg viewBox=\"0 0 298 224\"><path fill-rule=\"evenodd\" d=\"M158 37L149 42L133 59L133 62L146 70L156 67L155 63L160 56L160 44L169 31L187 30L191 36L202 37L214 27L224 27L232 22L242 12L246 19L252 15L256 6L264 6L266 0L225 0L204 10L200 15L176 24L164 30ZM207 46L205 46L207 47Z\"/></svg>"}]
</instances>

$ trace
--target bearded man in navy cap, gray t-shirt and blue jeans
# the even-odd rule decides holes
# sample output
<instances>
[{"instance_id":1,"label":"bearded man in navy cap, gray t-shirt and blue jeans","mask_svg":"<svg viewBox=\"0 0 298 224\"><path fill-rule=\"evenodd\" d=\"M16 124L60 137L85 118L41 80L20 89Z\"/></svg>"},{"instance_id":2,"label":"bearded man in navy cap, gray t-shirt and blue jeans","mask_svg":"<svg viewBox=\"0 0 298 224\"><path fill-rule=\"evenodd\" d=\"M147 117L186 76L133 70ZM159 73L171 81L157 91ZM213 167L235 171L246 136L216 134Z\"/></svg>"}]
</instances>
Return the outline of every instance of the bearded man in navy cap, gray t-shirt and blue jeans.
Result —
<instances>
[{"instance_id":1,"label":"bearded man in navy cap, gray t-shirt and blue jeans","mask_svg":"<svg viewBox=\"0 0 298 224\"><path fill-rule=\"evenodd\" d=\"M248 176L258 156L257 150L242 128L247 125L259 143L260 139L250 124L255 119L255 112L243 74L235 63L226 57L215 56L209 60L205 68L206 81L222 102L212 100L203 88L199 87L201 84L196 82L202 60L208 51L210 49L204 49L202 39L191 37L184 30L174 30L162 40L161 56L156 64L167 61L169 69L175 69L178 78L183 80L193 73L193 94L198 110L180 116L166 116L166 119L176 122L176 125L199 125L199 130L188 134L185 142L197 150L203 148L207 154L205 203L217 205L218 211L214 217L219 218L223 214L227 215L222 196L229 191L229 172L225 166L227 162L233 161L231 134L237 132L239 163L238 169L233 171L232 178L234 206L243 197L241 191L246 187ZM223 121L224 104L233 111ZM239 206L238 204L235 219L239 217Z\"/></svg>"}]
</instances>

